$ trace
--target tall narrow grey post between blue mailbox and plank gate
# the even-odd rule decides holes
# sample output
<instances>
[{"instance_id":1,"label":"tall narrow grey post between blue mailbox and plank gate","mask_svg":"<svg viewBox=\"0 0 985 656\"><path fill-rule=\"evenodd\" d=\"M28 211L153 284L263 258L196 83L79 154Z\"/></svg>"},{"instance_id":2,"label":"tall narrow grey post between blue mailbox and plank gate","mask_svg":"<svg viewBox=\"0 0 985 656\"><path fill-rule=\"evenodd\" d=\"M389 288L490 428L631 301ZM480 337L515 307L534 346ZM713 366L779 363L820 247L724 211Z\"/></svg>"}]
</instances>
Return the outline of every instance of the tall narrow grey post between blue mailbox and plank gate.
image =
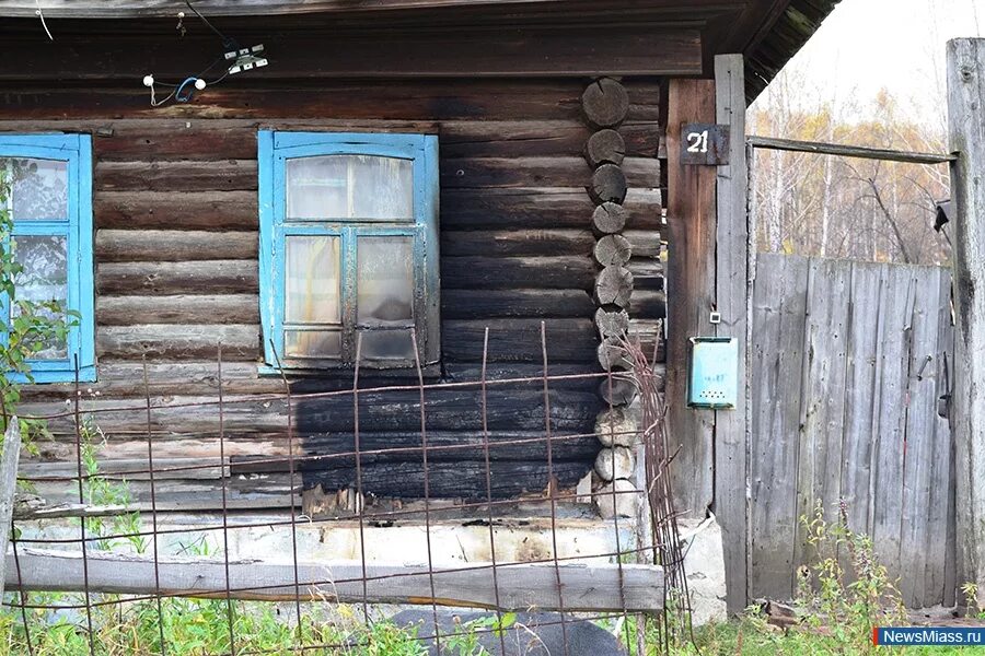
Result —
<instances>
[{"instance_id":1,"label":"tall narrow grey post between blue mailbox and plank gate","mask_svg":"<svg viewBox=\"0 0 985 656\"><path fill-rule=\"evenodd\" d=\"M745 74L742 55L715 57L716 121L729 126L729 163L718 167L715 294L718 337L739 339L739 389L746 380L749 225L745 163ZM715 503L725 548L729 612L746 606L746 408L741 391L733 410L715 414Z\"/></svg>"}]
</instances>

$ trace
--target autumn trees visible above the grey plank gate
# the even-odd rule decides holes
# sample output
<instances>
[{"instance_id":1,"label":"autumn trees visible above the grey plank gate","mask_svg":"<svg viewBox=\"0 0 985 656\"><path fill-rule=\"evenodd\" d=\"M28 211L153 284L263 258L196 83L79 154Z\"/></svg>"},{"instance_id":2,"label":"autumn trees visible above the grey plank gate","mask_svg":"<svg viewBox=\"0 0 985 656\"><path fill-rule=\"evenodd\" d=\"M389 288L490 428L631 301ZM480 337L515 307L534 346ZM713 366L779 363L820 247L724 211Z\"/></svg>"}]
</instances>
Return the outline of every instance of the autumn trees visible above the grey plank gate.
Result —
<instances>
[{"instance_id":1,"label":"autumn trees visible above the grey plank gate","mask_svg":"<svg viewBox=\"0 0 985 656\"><path fill-rule=\"evenodd\" d=\"M885 92L848 118L828 103L804 109L797 102L802 90L796 78L778 79L778 87L755 105L751 134L947 152L942 125L907 118ZM920 265L949 261L947 227L934 230L935 201L949 196L946 165L757 150L754 179L760 250Z\"/></svg>"}]
</instances>

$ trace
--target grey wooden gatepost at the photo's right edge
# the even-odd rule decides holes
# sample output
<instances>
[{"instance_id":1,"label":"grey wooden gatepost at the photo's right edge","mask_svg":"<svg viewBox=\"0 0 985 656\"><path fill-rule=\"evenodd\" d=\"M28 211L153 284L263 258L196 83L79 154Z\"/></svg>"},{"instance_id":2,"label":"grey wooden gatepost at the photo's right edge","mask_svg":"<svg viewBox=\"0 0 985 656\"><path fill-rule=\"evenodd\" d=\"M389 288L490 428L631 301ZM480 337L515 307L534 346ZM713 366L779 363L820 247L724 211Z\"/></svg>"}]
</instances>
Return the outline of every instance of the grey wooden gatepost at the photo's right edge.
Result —
<instances>
[{"instance_id":1,"label":"grey wooden gatepost at the photo's right edge","mask_svg":"<svg viewBox=\"0 0 985 656\"><path fill-rule=\"evenodd\" d=\"M985 39L948 42L954 203L954 390L958 585L985 601ZM960 599L960 597L959 597ZM959 604L961 601L959 600Z\"/></svg>"}]
</instances>

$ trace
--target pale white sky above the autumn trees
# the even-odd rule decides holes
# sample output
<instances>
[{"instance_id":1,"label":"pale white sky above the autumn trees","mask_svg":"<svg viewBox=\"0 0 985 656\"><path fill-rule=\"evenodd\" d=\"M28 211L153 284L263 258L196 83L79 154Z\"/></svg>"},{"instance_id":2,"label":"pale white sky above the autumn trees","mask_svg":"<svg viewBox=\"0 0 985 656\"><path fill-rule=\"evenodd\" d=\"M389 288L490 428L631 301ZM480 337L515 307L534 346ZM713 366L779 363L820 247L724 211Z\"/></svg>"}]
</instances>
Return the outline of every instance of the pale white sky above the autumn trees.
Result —
<instances>
[{"instance_id":1,"label":"pale white sky above the autumn trees","mask_svg":"<svg viewBox=\"0 0 985 656\"><path fill-rule=\"evenodd\" d=\"M938 120L948 39L983 35L985 0L842 0L780 74L797 77L804 105L850 114L885 89L916 120Z\"/></svg>"}]
</instances>

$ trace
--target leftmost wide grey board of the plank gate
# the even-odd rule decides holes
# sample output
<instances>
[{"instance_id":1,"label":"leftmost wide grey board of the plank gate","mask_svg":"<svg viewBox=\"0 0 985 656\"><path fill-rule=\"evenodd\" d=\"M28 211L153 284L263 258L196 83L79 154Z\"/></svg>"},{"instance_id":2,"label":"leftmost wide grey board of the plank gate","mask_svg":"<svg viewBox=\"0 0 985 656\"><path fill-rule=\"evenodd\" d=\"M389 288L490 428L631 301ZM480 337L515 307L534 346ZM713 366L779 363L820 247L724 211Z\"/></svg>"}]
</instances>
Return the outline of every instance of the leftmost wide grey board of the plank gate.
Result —
<instances>
[{"instance_id":1,"label":"leftmost wide grey board of the plank gate","mask_svg":"<svg viewBox=\"0 0 985 656\"><path fill-rule=\"evenodd\" d=\"M753 292L750 596L793 593L807 260L761 255ZM784 399L792 402L778 402Z\"/></svg>"}]
</instances>

